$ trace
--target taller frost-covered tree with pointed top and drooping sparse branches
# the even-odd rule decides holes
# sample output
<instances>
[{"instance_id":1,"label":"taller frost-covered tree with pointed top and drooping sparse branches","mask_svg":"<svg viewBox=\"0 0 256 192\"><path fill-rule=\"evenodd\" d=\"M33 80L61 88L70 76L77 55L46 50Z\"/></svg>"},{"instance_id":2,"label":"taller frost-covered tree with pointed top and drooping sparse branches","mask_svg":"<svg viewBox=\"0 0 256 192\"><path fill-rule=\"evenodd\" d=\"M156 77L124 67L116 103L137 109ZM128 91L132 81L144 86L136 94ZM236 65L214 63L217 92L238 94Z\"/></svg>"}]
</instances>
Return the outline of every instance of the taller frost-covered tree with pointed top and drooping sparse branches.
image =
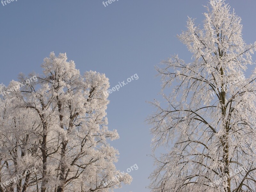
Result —
<instances>
[{"instance_id":1,"label":"taller frost-covered tree with pointed top and drooping sparse branches","mask_svg":"<svg viewBox=\"0 0 256 192\"><path fill-rule=\"evenodd\" d=\"M153 192L256 191L256 69L244 75L255 64L256 43L245 44L241 19L228 4L209 4L203 28L189 18L178 36L193 61L174 55L156 68L167 107L151 102L156 112L147 120L153 153L167 152L155 156Z\"/></svg>"}]
</instances>

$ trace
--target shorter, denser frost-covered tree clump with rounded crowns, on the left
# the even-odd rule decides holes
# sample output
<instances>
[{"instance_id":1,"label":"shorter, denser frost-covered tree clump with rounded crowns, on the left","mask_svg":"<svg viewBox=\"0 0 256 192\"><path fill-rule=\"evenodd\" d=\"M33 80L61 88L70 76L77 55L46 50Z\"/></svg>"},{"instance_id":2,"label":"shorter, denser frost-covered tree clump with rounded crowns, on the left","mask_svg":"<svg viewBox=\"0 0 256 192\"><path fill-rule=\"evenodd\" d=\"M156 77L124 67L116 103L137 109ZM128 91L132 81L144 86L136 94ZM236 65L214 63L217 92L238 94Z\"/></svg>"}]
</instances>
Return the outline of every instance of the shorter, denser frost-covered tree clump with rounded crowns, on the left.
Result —
<instances>
[{"instance_id":1,"label":"shorter, denser frost-covered tree clump with rounded crowns, on the left","mask_svg":"<svg viewBox=\"0 0 256 192\"><path fill-rule=\"evenodd\" d=\"M107 127L108 78L93 71L81 76L66 54L53 52L42 68L41 76L20 74L25 86L2 97L0 179L36 171L1 192L108 192L129 184L131 176L116 170L118 151L108 143L119 138Z\"/></svg>"}]
</instances>

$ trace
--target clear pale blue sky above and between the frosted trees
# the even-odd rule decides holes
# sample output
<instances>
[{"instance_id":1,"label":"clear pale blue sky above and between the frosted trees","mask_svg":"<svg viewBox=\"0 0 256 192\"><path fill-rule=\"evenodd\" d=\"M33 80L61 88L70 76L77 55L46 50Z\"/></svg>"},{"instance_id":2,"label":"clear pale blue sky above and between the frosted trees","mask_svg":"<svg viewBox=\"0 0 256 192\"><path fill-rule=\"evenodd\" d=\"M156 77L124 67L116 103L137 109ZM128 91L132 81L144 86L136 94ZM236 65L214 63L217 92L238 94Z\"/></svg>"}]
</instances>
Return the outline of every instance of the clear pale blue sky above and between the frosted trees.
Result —
<instances>
[{"instance_id":1,"label":"clear pale blue sky above and between the frosted trees","mask_svg":"<svg viewBox=\"0 0 256 192\"><path fill-rule=\"evenodd\" d=\"M109 96L109 129L120 139L111 142L119 150L117 169L130 172L131 185L115 192L148 192L153 171L152 136L145 118L154 109L145 101L159 98L159 78L154 66L171 54L189 61L190 53L176 38L186 30L187 16L201 23L206 0L119 0L104 7L102 0L17 0L0 4L0 82L17 80L19 72L42 73L40 64L54 51L66 52L84 73L105 73L110 87L135 73L138 80ZM242 18L246 43L256 40L256 1L227 0Z\"/></svg>"}]
</instances>

